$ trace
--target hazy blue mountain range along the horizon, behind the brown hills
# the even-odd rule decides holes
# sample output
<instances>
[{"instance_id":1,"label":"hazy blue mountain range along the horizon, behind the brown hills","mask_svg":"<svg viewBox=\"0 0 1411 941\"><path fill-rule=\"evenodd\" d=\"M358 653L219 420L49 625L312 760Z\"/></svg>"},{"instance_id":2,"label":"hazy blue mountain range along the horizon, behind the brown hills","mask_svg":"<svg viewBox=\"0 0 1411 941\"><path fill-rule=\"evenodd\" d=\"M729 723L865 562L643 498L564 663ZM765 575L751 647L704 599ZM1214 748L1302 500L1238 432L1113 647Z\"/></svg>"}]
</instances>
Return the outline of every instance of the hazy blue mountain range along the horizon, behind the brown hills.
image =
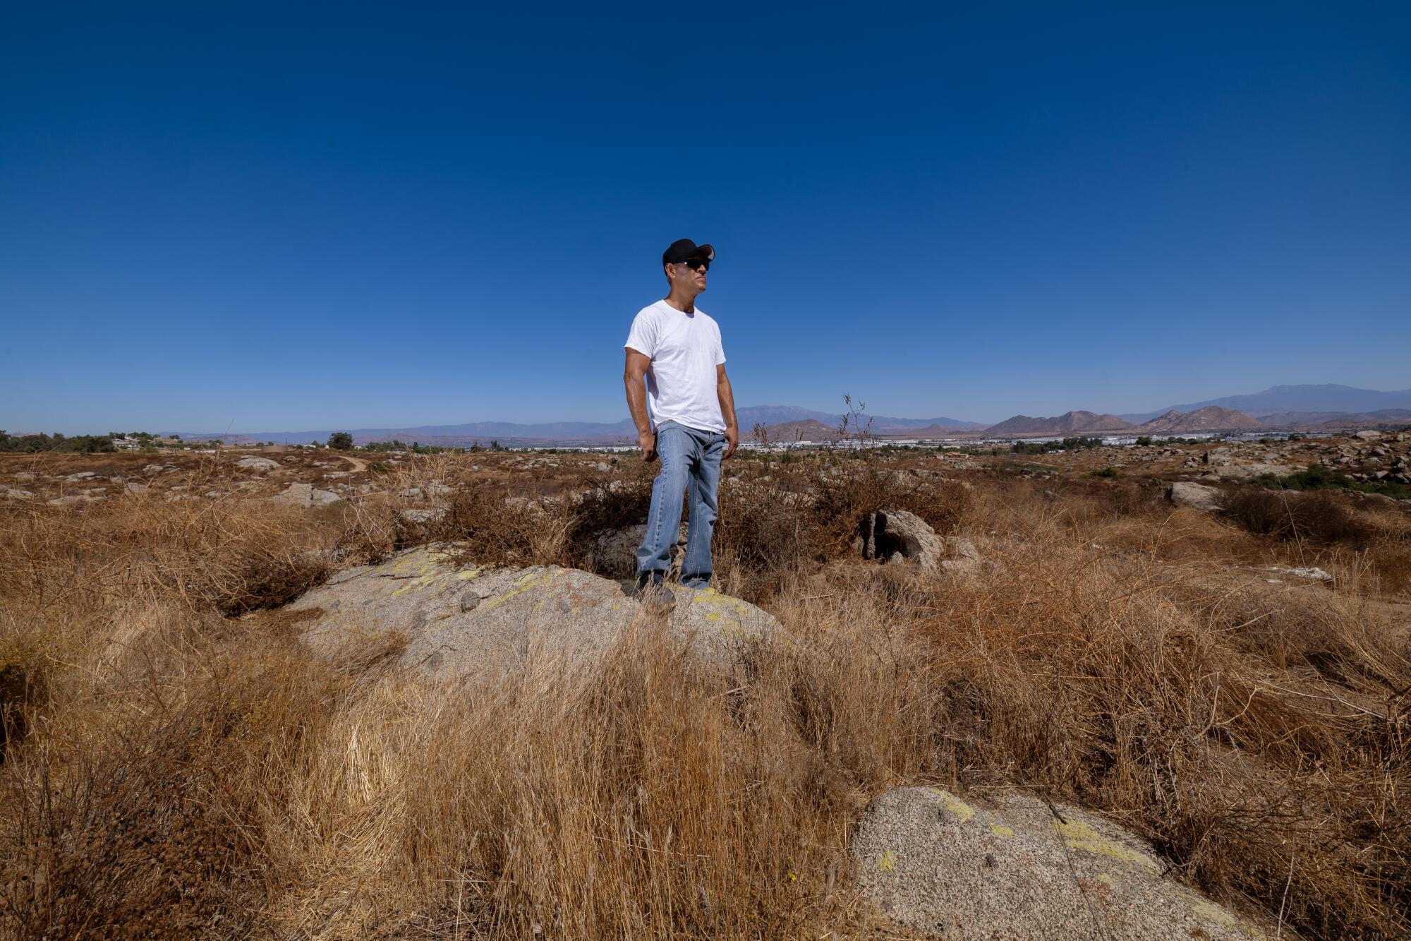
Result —
<instances>
[{"instance_id":1,"label":"hazy blue mountain range along the horizon, behind the brown hills","mask_svg":"<svg viewBox=\"0 0 1411 941\"><path fill-rule=\"evenodd\" d=\"M816 411L800 406L751 406L737 411L744 437L756 424L769 428L775 441L810 441L832 434L842 415ZM868 417L864 417L866 421ZM1098 414L1092 411L1068 411L1051 418L1015 415L999 424L986 425L964 418L895 418L871 417L871 432L882 437L938 438L957 434L983 432L989 437L1005 435L1058 435L1129 431L1141 425L1141 431L1153 434L1178 434L1188 431L1233 431L1273 428L1353 428L1377 424L1411 422L1411 389L1400 391L1377 391L1352 386L1274 386L1261 393L1247 396L1226 396L1184 406L1170 406L1156 411ZM1151 422L1151 424L1146 424ZM820 431L821 427L821 431ZM468 445L499 441L505 445L546 444L631 444L636 441L636 428L624 418L615 422L600 421L552 421L521 424L512 421L476 421L459 425L413 425L405 428L329 428L317 431L251 431L251 432L179 432L186 439L223 438L230 442L275 441L308 444L326 441L334 431L350 431L353 439L364 444L371 441L419 441L422 444ZM169 434L169 432L164 432ZM823 438L825 439L825 437Z\"/></svg>"}]
</instances>

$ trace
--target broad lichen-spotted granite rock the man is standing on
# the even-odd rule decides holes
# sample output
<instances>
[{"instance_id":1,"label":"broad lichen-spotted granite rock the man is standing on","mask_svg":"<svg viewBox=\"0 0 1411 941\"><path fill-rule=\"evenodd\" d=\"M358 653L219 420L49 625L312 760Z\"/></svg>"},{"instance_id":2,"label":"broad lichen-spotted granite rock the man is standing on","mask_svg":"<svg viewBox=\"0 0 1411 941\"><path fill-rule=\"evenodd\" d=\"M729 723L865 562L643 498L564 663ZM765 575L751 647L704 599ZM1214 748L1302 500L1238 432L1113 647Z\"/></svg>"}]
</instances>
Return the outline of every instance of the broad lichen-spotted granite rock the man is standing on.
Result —
<instances>
[{"instance_id":1,"label":"broad lichen-spotted granite rock the man is standing on","mask_svg":"<svg viewBox=\"0 0 1411 941\"><path fill-rule=\"evenodd\" d=\"M772 615L737 598L672 592L665 625L701 656L728 661L742 646L782 636ZM303 639L332 656L398 632L401 663L435 678L499 674L531 660L591 667L642 615L624 584L556 565L460 568L444 547L346 569L285 610L312 612Z\"/></svg>"}]
</instances>

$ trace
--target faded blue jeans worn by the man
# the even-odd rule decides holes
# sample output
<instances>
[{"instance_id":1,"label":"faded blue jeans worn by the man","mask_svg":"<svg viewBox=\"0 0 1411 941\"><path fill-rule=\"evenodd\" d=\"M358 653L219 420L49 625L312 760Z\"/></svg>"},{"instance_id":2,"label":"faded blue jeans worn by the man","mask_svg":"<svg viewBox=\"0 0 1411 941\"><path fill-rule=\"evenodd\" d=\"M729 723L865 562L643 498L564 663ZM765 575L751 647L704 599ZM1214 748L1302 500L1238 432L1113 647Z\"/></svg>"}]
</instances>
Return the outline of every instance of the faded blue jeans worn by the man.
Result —
<instances>
[{"instance_id":1,"label":"faded blue jeans worn by the man","mask_svg":"<svg viewBox=\"0 0 1411 941\"><path fill-rule=\"evenodd\" d=\"M689 428L674 421L656 425L656 454L662 472L652 482L652 510L646 516L646 537L636 550L636 574L666 572L672 547L682 528L682 500L690 492L686 528L686 558L682 585L710 585L710 537L715 531L715 490L720 486L720 456L725 435Z\"/></svg>"}]
</instances>

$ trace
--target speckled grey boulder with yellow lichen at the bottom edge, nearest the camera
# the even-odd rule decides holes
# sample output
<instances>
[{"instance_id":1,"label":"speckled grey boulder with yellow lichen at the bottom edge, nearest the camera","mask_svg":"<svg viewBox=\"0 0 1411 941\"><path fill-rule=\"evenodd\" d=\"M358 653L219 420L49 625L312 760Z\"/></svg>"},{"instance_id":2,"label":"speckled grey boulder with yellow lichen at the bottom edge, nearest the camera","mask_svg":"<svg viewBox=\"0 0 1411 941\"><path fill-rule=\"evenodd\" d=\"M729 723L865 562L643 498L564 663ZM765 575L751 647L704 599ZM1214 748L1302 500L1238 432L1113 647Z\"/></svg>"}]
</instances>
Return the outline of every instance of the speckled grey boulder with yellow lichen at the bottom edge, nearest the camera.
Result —
<instances>
[{"instance_id":1,"label":"speckled grey boulder with yellow lichen at the bottom edge, nearest the camera","mask_svg":"<svg viewBox=\"0 0 1411 941\"><path fill-rule=\"evenodd\" d=\"M862 896L948 941L1268 937L1165 876L1134 834L1029 794L989 805L931 787L879 795L852 841Z\"/></svg>"}]
</instances>

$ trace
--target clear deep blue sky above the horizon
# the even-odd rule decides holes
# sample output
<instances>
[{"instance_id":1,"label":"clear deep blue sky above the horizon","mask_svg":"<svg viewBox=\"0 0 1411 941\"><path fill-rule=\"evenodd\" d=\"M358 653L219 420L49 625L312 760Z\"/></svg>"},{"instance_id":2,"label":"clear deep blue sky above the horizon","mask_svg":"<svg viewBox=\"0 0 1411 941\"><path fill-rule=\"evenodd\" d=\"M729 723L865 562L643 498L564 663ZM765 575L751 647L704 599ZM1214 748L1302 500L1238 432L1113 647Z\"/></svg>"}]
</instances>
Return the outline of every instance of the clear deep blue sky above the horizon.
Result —
<instances>
[{"instance_id":1,"label":"clear deep blue sky above the horizon","mask_svg":"<svg viewBox=\"0 0 1411 941\"><path fill-rule=\"evenodd\" d=\"M1137 6L4 4L0 427L1411 386L1411 7Z\"/></svg>"}]
</instances>

